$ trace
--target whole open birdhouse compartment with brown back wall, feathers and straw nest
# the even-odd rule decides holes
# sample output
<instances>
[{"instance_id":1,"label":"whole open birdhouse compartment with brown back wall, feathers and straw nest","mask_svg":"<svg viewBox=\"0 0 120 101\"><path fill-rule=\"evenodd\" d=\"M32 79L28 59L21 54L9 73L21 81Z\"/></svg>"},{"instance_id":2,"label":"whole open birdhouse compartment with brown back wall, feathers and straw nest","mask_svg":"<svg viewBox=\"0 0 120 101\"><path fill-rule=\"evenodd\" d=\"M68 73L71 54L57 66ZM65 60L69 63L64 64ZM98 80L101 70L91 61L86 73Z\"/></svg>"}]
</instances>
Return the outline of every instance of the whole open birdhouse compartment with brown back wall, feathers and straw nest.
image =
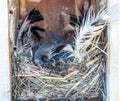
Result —
<instances>
[{"instance_id":1,"label":"whole open birdhouse compartment with brown back wall, feathers and straw nest","mask_svg":"<svg viewBox=\"0 0 120 101\"><path fill-rule=\"evenodd\" d=\"M12 101L106 101L106 0L9 0Z\"/></svg>"}]
</instances>

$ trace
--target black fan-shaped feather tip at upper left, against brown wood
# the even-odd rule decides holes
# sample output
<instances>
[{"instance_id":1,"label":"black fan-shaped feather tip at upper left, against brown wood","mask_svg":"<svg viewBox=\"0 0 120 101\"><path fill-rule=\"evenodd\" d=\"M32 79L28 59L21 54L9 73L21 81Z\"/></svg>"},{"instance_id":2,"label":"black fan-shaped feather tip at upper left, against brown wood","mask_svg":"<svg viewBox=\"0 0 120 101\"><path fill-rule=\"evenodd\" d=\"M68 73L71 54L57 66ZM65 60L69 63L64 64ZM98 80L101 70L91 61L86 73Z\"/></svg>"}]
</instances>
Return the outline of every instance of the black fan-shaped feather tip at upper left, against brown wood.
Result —
<instances>
[{"instance_id":1,"label":"black fan-shaped feather tip at upper left, against brown wood","mask_svg":"<svg viewBox=\"0 0 120 101\"><path fill-rule=\"evenodd\" d=\"M41 15L41 13L39 12L39 10L37 10L35 8L28 14L28 18L27 18L27 20L30 20L30 23L38 22L43 19L44 18Z\"/></svg>"}]
</instances>

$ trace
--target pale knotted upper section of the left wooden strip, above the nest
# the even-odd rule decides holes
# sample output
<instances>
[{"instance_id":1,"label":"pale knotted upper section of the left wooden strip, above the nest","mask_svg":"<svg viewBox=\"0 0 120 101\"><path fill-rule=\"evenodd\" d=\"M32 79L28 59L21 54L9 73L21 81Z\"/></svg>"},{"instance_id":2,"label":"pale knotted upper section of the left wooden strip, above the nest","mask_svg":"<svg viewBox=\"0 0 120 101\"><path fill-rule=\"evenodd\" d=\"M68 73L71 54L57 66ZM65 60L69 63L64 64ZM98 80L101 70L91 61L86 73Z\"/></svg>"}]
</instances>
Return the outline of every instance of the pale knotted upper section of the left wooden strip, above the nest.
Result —
<instances>
[{"instance_id":1,"label":"pale knotted upper section of the left wooden strip, above the nest","mask_svg":"<svg viewBox=\"0 0 120 101\"><path fill-rule=\"evenodd\" d=\"M9 0L8 2L8 13L9 13L9 36L13 45L15 45L16 41L16 33L17 33L17 23L19 19L19 0Z\"/></svg>"}]
</instances>

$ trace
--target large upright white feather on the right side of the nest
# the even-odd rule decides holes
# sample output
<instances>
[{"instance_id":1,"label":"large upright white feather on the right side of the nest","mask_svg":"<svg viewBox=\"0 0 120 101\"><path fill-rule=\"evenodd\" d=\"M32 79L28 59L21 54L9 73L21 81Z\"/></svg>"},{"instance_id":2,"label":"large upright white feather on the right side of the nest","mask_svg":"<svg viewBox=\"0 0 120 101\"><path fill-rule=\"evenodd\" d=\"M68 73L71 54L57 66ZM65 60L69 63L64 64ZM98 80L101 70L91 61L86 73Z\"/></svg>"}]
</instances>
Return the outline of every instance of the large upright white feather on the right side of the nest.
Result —
<instances>
[{"instance_id":1,"label":"large upright white feather on the right side of the nest","mask_svg":"<svg viewBox=\"0 0 120 101\"><path fill-rule=\"evenodd\" d=\"M106 26L106 21L102 21L100 24L98 22L102 20L105 14L106 10L101 9L95 16L92 6L89 8L86 17L83 18L81 26L76 27L75 53L79 53L80 49L82 49L84 44L81 44L81 40L83 38L86 38L86 36L89 35L89 40L91 41L94 36L98 35L101 31L103 31ZM94 25L94 23L97 23L97 26Z\"/></svg>"}]
</instances>

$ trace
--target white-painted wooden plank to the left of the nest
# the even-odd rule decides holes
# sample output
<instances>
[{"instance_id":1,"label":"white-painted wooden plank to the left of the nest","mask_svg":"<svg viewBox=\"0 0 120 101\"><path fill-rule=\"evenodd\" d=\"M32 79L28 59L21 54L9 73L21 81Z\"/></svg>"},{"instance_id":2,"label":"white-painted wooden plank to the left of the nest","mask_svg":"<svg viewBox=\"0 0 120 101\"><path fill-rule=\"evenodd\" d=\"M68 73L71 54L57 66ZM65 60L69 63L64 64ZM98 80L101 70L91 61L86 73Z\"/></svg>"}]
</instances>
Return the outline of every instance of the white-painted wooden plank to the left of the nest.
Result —
<instances>
[{"instance_id":1,"label":"white-painted wooden plank to the left of the nest","mask_svg":"<svg viewBox=\"0 0 120 101\"><path fill-rule=\"evenodd\" d=\"M1 0L0 7L0 101L11 101L8 58L8 0Z\"/></svg>"}]
</instances>

